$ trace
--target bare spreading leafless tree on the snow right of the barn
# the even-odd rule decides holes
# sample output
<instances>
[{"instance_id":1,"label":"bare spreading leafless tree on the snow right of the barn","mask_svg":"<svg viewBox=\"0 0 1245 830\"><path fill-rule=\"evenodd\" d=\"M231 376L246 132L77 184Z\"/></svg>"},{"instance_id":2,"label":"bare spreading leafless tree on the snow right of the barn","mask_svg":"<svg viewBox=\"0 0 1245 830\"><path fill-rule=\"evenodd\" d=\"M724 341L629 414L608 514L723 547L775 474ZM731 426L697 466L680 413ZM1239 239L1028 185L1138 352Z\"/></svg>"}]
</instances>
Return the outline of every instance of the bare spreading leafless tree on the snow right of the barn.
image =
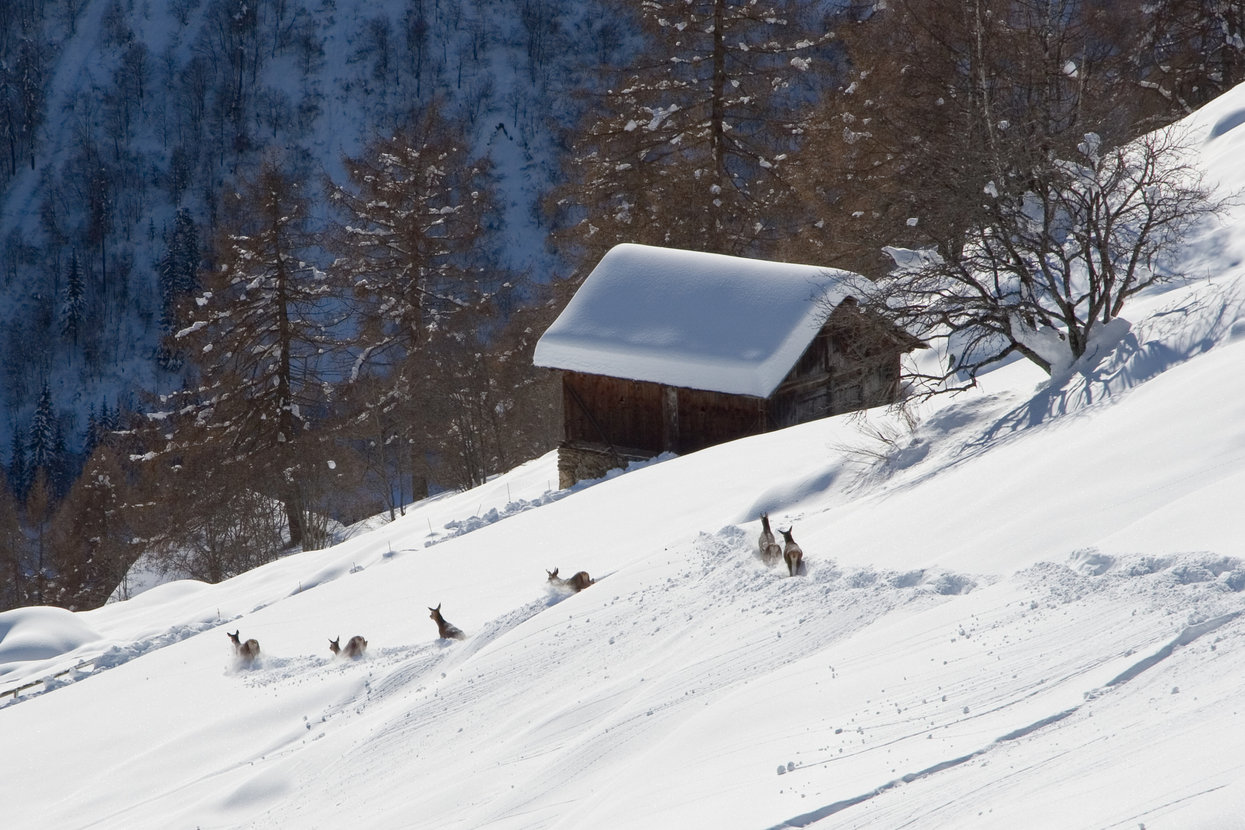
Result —
<instances>
[{"instance_id":1,"label":"bare spreading leafless tree on the snow right of the barn","mask_svg":"<svg viewBox=\"0 0 1245 830\"><path fill-rule=\"evenodd\" d=\"M1167 255L1224 205L1174 128L1119 147L1086 136L1026 184L987 183L964 234L890 249L899 268L865 289L872 310L949 340L951 363L923 380L971 383L1012 353L1048 373L1071 365L1130 297L1180 276Z\"/></svg>"}]
</instances>

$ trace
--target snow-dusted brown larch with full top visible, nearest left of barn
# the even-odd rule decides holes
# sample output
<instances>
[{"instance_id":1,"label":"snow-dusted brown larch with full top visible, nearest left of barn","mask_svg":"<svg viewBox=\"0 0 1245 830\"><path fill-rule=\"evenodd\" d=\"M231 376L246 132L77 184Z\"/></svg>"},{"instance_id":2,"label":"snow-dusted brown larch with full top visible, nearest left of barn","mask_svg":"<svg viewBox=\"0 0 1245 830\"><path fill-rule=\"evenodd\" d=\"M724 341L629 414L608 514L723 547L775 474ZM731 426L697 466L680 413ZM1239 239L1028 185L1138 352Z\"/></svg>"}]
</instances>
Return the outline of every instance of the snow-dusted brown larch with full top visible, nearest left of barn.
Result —
<instances>
[{"instance_id":1,"label":"snow-dusted brown larch with full top visible, nearest left of barn","mask_svg":"<svg viewBox=\"0 0 1245 830\"><path fill-rule=\"evenodd\" d=\"M430 403L451 391L435 386L428 351L499 281L488 268L488 230L499 221L491 163L436 105L342 163L346 182L329 192L340 214L332 271L357 322L351 377L386 378L369 386L378 397L356 402L365 408L357 426L371 434L390 424L367 439L386 454L371 464L410 477L410 495L421 498L428 470L418 457L435 449L437 429ZM396 488L407 492L405 482Z\"/></svg>"}]
</instances>

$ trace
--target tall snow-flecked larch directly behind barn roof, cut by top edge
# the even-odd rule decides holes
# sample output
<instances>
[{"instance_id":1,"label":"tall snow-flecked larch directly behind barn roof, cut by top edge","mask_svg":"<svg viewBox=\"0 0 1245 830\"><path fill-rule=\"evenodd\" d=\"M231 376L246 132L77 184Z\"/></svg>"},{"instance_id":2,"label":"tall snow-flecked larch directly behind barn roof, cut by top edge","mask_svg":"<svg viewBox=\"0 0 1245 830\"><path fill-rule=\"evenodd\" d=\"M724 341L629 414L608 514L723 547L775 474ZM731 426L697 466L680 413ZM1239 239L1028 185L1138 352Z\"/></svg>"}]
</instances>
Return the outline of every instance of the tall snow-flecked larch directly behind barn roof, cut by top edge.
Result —
<instances>
[{"instance_id":1,"label":"tall snow-flecked larch directly behind barn roof, cut by top edge","mask_svg":"<svg viewBox=\"0 0 1245 830\"><path fill-rule=\"evenodd\" d=\"M832 67L809 4L644 0L634 62L571 136L550 209L571 258L635 241L764 254L792 233L786 159L802 111Z\"/></svg>"}]
</instances>

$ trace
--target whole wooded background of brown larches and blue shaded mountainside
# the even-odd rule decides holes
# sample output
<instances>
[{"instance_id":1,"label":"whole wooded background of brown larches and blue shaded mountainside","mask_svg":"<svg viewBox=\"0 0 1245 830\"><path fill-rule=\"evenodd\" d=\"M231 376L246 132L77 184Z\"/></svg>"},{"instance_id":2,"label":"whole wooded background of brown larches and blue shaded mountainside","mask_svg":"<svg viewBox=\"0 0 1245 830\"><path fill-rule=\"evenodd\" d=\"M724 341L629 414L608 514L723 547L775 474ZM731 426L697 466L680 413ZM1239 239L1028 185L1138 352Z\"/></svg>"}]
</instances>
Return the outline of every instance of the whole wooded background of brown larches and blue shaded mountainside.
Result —
<instances>
[{"instance_id":1,"label":"whole wooded background of brown larches and blue shaded mountainside","mask_svg":"<svg viewBox=\"0 0 1245 830\"><path fill-rule=\"evenodd\" d=\"M0 20L0 610L139 556L225 579L544 452L532 347L618 243L880 280L1245 81L1234 0Z\"/></svg>"}]
</instances>

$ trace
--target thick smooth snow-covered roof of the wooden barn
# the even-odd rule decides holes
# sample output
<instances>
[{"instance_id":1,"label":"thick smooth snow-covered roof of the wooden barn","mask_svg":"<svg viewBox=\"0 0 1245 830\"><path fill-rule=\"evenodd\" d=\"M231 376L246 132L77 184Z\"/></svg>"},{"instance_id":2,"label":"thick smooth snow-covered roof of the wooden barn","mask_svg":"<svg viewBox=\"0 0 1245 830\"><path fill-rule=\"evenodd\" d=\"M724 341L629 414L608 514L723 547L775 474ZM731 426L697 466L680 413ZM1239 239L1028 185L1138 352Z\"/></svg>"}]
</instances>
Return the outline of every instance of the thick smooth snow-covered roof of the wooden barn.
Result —
<instances>
[{"instance_id":1,"label":"thick smooth snow-covered roof of the wooden barn","mask_svg":"<svg viewBox=\"0 0 1245 830\"><path fill-rule=\"evenodd\" d=\"M814 265L618 245L549 326L533 362L769 397L857 279Z\"/></svg>"}]
</instances>

